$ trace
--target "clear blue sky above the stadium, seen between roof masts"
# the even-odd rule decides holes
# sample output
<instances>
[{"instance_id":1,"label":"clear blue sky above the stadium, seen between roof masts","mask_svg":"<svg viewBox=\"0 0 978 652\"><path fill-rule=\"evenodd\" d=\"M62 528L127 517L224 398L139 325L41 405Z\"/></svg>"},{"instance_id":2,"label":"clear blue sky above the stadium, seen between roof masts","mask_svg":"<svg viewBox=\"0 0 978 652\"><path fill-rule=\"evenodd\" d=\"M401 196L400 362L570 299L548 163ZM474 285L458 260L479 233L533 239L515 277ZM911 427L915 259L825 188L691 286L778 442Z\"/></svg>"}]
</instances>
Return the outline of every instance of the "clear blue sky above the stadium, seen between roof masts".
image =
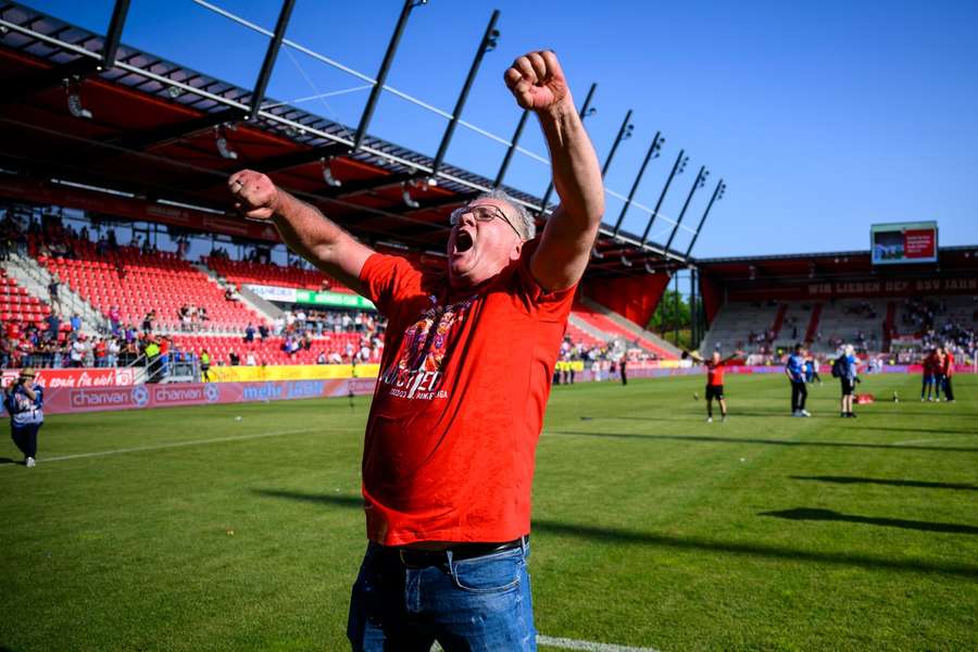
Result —
<instances>
[{"instance_id":1,"label":"clear blue sky above the stadium, seen between roof masts","mask_svg":"<svg viewBox=\"0 0 978 652\"><path fill-rule=\"evenodd\" d=\"M274 28L274 0L215 0ZM111 0L27 2L103 34ZM374 76L400 0L297 0L287 37ZM626 2L430 0L416 9L388 84L451 111L489 21L500 9L499 48L486 55L464 120L509 138L519 112L503 83L510 62L552 48L578 103L598 83L587 121L604 160L628 109L634 137L606 178L626 195L661 129L663 155L636 197L654 205L679 148L690 154L663 212L676 216L695 171L711 184L694 197L694 227L723 177L694 255L868 249L869 225L936 220L940 242L978 244L978 2ZM123 42L228 82L254 84L267 39L190 0L133 0ZM302 53L279 55L268 95L293 100L361 86ZM356 125L367 90L299 105ZM434 155L446 121L393 96L381 99L372 134ZM538 129L521 143L544 153ZM456 131L448 162L494 176L504 147ZM539 162L517 156L506 183L541 195ZM609 199L605 222L622 202ZM641 233L632 209L625 228ZM665 225L662 225L665 226ZM662 241L667 233L653 229ZM690 235L675 246L685 250Z\"/></svg>"}]
</instances>

